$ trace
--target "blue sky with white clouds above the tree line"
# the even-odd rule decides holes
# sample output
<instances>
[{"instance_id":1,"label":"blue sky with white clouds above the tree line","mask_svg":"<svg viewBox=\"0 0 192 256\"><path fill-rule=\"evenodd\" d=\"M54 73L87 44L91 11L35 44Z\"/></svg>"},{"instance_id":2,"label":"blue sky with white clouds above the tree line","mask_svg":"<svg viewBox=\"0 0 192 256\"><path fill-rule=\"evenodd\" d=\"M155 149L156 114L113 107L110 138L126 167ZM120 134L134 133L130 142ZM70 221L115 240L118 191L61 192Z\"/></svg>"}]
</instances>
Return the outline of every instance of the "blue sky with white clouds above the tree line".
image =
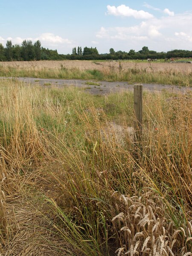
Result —
<instances>
[{"instance_id":1,"label":"blue sky with white clouds above the tree line","mask_svg":"<svg viewBox=\"0 0 192 256\"><path fill-rule=\"evenodd\" d=\"M40 40L72 53L192 50L192 0L0 0L0 43Z\"/></svg>"}]
</instances>

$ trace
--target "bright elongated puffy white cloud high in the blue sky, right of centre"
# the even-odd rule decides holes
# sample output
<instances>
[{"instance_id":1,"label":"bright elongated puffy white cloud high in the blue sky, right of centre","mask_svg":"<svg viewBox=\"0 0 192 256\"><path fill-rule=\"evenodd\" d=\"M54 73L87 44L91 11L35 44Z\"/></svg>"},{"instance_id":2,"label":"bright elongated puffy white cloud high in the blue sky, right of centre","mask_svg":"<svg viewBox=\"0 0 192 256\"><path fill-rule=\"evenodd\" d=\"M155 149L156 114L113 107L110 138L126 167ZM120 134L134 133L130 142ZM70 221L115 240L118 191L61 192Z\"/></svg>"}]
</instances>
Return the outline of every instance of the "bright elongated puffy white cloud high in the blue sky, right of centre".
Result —
<instances>
[{"instance_id":1,"label":"bright elongated puffy white cloud high in the blue sky, right of centre","mask_svg":"<svg viewBox=\"0 0 192 256\"><path fill-rule=\"evenodd\" d=\"M108 15L114 15L114 16L123 16L123 17L134 17L135 19L151 19L153 18L153 15L144 12L143 10L137 11L134 9L131 9L129 6L125 6L124 4L120 6L107 6L107 14Z\"/></svg>"}]
</instances>

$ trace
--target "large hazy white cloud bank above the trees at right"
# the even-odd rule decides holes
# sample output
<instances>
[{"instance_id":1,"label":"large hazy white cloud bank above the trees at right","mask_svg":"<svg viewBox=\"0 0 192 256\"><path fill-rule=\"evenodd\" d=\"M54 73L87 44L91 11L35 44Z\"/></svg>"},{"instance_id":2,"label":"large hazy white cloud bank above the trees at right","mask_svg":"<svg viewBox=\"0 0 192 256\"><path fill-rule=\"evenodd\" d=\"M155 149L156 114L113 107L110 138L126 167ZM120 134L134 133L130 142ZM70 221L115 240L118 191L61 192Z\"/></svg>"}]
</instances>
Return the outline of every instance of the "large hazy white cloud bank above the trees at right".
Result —
<instances>
[{"instance_id":1,"label":"large hazy white cloud bank above the trees at right","mask_svg":"<svg viewBox=\"0 0 192 256\"><path fill-rule=\"evenodd\" d=\"M162 16L140 22L136 26L102 27L96 33L98 41L105 41L124 49L149 49L168 51L171 49L191 49L192 13ZM117 49L118 49L117 48Z\"/></svg>"}]
</instances>

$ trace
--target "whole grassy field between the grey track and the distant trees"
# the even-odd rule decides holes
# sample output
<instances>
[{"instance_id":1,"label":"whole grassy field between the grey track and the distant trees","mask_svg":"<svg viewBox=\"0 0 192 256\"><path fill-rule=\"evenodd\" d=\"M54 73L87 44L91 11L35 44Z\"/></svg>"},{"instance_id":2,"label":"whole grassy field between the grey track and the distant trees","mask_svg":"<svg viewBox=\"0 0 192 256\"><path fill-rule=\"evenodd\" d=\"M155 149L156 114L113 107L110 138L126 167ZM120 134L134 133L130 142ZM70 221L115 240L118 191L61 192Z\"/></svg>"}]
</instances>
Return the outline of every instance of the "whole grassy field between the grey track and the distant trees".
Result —
<instances>
[{"instance_id":1,"label":"whole grassy field between the grey track and the distant trees","mask_svg":"<svg viewBox=\"0 0 192 256\"><path fill-rule=\"evenodd\" d=\"M12 61L0 63L0 76L91 79L192 86L187 63L145 61Z\"/></svg>"}]
</instances>

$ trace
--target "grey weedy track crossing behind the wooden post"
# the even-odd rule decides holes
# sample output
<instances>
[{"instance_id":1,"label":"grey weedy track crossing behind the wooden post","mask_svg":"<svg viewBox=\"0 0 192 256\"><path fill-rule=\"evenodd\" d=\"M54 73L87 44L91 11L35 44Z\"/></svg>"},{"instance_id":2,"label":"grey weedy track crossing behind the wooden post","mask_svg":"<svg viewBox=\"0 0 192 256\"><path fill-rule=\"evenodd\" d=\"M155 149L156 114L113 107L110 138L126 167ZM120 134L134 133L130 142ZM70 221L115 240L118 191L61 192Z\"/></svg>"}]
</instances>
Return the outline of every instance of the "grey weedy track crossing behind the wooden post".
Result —
<instances>
[{"instance_id":1,"label":"grey weedy track crossing behind the wooden post","mask_svg":"<svg viewBox=\"0 0 192 256\"><path fill-rule=\"evenodd\" d=\"M1 78L4 79L4 78ZM11 79L11 78L9 78ZM128 82L107 82L107 81L87 81L87 80L78 80L78 79L37 79L29 77L20 77L14 78L19 81L24 81L27 84L40 84L43 86L52 86L65 87L65 86L76 86L84 88L85 91L90 92L94 95L106 95L111 92L118 92L122 90L133 90L134 84L128 84ZM190 87L179 87L177 85L163 85L163 84L143 84L143 90L147 91L162 91L169 90L171 92L181 92L185 93L188 90L192 91Z\"/></svg>"}]
</instances>

